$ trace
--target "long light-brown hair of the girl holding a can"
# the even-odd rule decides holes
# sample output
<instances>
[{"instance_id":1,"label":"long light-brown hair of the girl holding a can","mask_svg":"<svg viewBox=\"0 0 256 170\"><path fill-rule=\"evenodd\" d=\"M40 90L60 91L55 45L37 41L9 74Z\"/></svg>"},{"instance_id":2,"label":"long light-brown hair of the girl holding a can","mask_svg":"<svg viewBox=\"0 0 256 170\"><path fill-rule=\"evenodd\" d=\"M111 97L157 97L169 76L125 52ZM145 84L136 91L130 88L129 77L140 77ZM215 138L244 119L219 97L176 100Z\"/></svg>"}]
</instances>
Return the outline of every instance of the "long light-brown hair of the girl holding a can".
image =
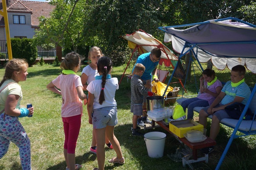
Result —
<instances>
[{"instance_id":1,"label":"long light-brown hair of the girl holding a can","mask_svg":"<svg viewBox=\"0 0 256 170\"><path fill-rule=\"evenodd\" d=\"M11 61L6 63L5 73L3 76L3 80L0 82L0 86L3 84L4 81L13 78L14 71L17 71L17 73L19 73L23 71L25 67L28 68L28 63L22 58L13 58Z\"/></svg>"}]
</instances>

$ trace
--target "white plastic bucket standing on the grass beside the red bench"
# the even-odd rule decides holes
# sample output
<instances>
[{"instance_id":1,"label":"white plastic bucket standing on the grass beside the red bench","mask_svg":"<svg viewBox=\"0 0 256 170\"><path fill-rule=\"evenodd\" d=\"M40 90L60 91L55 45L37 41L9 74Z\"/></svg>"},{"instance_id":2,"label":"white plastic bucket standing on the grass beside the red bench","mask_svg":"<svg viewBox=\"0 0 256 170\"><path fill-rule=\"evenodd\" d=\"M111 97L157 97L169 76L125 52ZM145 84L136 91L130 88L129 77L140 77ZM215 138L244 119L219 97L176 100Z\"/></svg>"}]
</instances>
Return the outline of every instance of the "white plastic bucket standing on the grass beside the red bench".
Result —
<instances>
[{"instance_id":1,"label":"white plastic bucket standing on the grass beside the red bench","mask_svg":"<svg viewBox=\"0 0 256 170\"><path fill-rule=\"evenodd\" d=\"M166 134L162 132L148 132L144 135L146 142L147 154L152 158L160 158L163 156L165 149Z\"/></svg>"}]
</instances>

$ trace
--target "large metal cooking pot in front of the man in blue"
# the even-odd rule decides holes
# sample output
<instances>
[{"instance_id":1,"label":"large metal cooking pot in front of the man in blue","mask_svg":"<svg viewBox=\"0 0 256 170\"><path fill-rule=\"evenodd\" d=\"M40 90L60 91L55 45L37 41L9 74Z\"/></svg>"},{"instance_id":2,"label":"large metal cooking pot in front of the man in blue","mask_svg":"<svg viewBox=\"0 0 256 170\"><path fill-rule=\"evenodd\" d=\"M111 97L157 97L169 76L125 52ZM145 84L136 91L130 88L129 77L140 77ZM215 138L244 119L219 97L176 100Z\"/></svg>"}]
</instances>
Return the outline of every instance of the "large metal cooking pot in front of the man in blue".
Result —
<instances>
[{"instance_id":1,"label":"large metal cooking pot in front of the man in blue","mask_svg":"<svg viewBox=\"0 0 256 170\"><path fill-rule=\"evenodd\" d=\"M147 111L163 108L165 98L162 96L149 96L147 99Z\"/></svg>"}]
</instances>

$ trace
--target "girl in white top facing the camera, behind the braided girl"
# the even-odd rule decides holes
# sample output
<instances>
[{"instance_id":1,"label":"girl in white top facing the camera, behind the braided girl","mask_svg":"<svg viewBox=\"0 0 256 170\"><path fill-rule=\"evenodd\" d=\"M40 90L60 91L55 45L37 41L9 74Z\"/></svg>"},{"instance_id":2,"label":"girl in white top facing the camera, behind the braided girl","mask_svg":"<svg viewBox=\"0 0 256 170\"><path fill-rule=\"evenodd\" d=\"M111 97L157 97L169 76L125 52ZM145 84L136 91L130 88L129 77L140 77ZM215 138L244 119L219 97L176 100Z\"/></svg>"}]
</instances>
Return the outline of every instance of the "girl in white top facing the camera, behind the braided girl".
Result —
<instances>
[{"instance_id":1,"label":"girl in white top facing the camera, behind the braided girl","mask_svg":"<svg viewBox=\"0 0 256 170\"><path fill-rule=\"evenodd\" d=\"M81 75L81 81L83 84L84 89L87 90L87 86L91 81L95 80L95 76L99 75L98 70L97 70L97 62L101 56L104 56L102 54L101 49L99 47L91 47L89 53L88 53L88 58L91 60L91 63L83 68L82 75ZM87 83L87 84L86 84ZM110 148L113 149L113 146L111 145L109 139L105 137L105 143L106 145ZM97 149L96 149L96 139L93 131L93 139L91 141L91 148L90 152L96 154Z\"/></svg>"}]
</instances>

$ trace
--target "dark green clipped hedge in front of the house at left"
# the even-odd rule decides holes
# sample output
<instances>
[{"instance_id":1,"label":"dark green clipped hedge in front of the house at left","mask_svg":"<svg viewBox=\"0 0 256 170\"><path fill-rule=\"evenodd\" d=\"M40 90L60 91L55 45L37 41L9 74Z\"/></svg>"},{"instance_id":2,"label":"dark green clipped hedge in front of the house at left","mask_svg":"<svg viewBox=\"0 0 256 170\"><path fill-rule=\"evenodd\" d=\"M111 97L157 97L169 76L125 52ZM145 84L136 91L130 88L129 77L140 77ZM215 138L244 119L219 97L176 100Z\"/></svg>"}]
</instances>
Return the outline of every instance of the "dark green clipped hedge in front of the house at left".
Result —
<instances>
[{"instance_id":1,"label":"dark green clipped hedge in front of the house at left","mask_svg":"<svg viewBox=\"0 0 256 170\"><path fill-rule=\"evenodd\" d=\"M29 38L11 38L13 58L25 58L29 66L37 59L37 46Z\"/></svg>"}]
</instances>

